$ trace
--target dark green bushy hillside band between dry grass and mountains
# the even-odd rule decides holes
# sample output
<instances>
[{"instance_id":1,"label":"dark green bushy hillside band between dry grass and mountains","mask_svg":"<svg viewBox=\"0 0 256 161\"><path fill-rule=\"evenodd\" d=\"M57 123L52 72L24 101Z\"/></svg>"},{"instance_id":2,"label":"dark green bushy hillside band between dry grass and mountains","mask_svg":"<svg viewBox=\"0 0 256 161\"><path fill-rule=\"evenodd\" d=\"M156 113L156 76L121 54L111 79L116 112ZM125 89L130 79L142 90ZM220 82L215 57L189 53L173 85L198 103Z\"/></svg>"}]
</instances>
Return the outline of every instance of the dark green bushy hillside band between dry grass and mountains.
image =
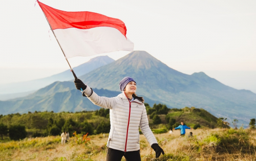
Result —
<instances>
[{"instance_id":1,"label":"dark green bushy hillside band between dry grass and mountains","mask_svg":"<svg viewBox=\"0 0 256 161\"><path fill-rule=\"evenodd\" d=\"M157 108L159 107L159 108ZM146 109L148 113L148 122L153 131L155 129L162 129L161 132L166 132L170 128L170 119L175 119L172 121L172 125L177 127L180 125L181 121L191 127L195 128L196 124L200 124L202 128L215 128L215 127L223 127L222 124L218 124L218 119L215 116L212 116L209 112L204 109L198 109L195 107L188 108L185 107L183 109L168 109L166 108L166 114L161 113L161 108L165 107L162 104L154 104L152 107L146 104ZM153 111L157 111L157 116L160 116L161 122L154 123L154 119L151 119ZM51 120L52 119L52 120ZM91 130L86 131L87 126L85 125L90 123ZM58 127L59 131L57 134L60 134L60 130L68 130L72 135L73 132L81 133L81 132L89 132L90 135L101 133L98 132L98 126L101 126L100 123L104 122L104 124L110 124L109 121L109 109L100 108L100 110L96 111L80 111L80 112L53 112L53 111L35 111L35 112L27 112L27 113L15 113L8 115L0 115L0 124L4 124L7 127L11 127L13 125L22 125L25 126L28 133L28 136L35 135L40 133L41 135L54 135L51 133L51 129L55 126ZM71 127L69 125L72 125ZM211 127L210 127L211 126ZM84 129L85 128L85 129ZM85 130L85 131L84 131ZM110 131L110 126L106 127L106 133ZM156 132L156 131L155 131Z\"/></svg>"}]
</instances>

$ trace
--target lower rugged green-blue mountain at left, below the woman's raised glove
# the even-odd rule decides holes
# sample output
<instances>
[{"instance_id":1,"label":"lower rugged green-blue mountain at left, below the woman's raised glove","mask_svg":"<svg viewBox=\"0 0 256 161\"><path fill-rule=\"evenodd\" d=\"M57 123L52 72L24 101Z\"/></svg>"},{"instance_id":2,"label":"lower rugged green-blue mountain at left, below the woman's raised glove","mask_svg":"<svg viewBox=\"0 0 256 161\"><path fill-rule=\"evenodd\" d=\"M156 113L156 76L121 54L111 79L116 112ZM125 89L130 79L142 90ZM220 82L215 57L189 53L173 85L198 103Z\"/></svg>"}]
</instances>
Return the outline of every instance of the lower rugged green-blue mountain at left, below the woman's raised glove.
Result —
<instances>
[{"instance_id":1,"label":"lower rugged green-blue mountain at left, below the woman's raised glove","mask_svg":"<svg viewBox=\"0 0 256 161\"><path fill-rule=\"evenodd\" d=\"M93 89L99 96L115 97L121 91L110 91L106 89ZM144 98L153 106L158 101ZM54 82L35 93L24 97L8 101L0 101L0 114L27 113L28 111L82 111L96 110L99 106L94 105L86 97L82 97L81 92L75 88L74 82Z\"/></svg>"}]
</instances>

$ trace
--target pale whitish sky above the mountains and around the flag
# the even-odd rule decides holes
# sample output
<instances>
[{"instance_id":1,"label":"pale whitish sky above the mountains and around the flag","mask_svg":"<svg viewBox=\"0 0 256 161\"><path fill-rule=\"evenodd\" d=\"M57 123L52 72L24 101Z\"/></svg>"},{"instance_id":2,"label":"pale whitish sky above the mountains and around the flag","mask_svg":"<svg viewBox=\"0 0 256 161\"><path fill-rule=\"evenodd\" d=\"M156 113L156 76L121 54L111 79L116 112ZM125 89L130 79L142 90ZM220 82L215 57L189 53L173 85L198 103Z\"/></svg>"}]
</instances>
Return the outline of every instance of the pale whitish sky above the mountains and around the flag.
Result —
<instances>
[{"instance_id":1,"label":"pale whitish sky above the mountains and around the flag","mask_svg":"<svg viewBox=\"0 0 256 161\"><path fill-rule=\"evenodd\" d=\"M65 11L121 19L134 50L146 51L185 73L204 72L225 85L256 93L256 1L41 0ZM35 0L0 5L0 84L69 69ZM105 53L117 60L129 52ZM93 57L74 57L78 66Z\"/></svg>"}]
</instances>

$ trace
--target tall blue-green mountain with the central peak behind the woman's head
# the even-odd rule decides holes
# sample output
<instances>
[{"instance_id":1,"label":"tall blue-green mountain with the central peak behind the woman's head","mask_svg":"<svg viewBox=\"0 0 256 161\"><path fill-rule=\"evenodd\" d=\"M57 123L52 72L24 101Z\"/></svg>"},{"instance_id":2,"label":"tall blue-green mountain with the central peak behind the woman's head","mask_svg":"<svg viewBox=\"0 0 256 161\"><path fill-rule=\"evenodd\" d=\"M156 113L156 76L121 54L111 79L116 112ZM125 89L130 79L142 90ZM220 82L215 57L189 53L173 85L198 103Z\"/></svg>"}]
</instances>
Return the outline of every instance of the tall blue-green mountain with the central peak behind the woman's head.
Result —
<instances>
[{"instance_id":1,"label":"tall blue-green mountain with the central peak behind the woman's head","mask_svg":"<svg viewBox=\"0 0 256 161\"><path fill-rule=\"evenodd\" d=\"M144 51L134 51L79 77L92 88L118 91L123 77L137 82L137 94L169 108L203 108L217 117L249 123L255 118L256 94L226 86L203 72L186 75Z\"/></svg>"}]
</instances>

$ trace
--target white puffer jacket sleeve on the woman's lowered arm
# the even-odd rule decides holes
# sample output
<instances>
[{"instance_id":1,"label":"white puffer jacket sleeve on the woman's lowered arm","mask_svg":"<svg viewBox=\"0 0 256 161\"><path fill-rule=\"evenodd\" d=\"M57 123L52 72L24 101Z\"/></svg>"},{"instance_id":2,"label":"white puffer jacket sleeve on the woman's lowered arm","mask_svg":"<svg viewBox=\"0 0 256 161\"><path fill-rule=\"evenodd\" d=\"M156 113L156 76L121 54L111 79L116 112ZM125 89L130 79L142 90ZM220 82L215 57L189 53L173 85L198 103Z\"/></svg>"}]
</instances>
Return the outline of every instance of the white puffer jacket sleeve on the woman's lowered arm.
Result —
<instances>
[{"instance_id":1,"label":"white puffer jacket sleeve on the woman's lowered arm","mask_svg":"<svg viewBox=\"0 0 256 161\"><path fill-rule=\"evenodd\" d=\"M153 132L151 131L150 126L148 125L145 105L143 105L143 108L144 109L140 119L140 129L141 129L141 132L145 135L147 142L150 143L150 146L152 146L152 144L155 144L155 143L157 144L157 140Z\"/></svg>"}]
</instances>

